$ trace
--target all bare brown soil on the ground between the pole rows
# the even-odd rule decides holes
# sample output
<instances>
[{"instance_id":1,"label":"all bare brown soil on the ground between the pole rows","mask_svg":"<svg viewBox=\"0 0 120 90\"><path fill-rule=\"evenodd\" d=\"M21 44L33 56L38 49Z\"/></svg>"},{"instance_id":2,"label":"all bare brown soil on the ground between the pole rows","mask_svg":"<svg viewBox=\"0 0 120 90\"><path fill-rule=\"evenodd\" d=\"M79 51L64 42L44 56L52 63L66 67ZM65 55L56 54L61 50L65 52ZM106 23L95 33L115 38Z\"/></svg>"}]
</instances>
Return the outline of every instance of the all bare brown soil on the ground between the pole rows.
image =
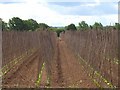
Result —
<instances>
[{"instance_id":1,"label":"all bare brown soil on the ground between the pole rows","mask_svg":"<svg viewBox=\"0 0 120 90\"><path fill-rule=\"evenodd\" d=\"M40 61L39 51L36 51L30 57L25 58L19 66L14 67L17 68L16 71L11 71L6 75L3 79L3 87L97 88L64 40L58 39L56 48L49 84L47 82L49 76L46 70L47 64L45 63L39 86L36 86L43 63Z\"/></svg>"}]
</instances>

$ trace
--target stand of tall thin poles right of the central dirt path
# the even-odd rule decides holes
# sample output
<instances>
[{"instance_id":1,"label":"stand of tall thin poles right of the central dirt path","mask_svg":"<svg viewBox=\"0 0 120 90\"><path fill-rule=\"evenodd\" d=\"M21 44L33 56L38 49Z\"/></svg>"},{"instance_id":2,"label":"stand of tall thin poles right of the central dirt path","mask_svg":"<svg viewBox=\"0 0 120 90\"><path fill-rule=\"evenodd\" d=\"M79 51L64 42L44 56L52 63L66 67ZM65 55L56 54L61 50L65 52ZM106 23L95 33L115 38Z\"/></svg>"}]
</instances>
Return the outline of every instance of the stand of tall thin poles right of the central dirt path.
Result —
<instances>
[{"instance_id":1,"label":"stand of tall thin poles right of the central dirt path","mask_svg":"<svg viewBox=\"0 0 120 90\"><path fill-rule=\"evenodd\" d=\"M117 30L68 31L62 34L68 48L104 78L108 87L118 87L118 32ZM77 57L79 59L79 57ZM89 67L90 66L90 67ZM91 73L91 72L89 72ZM92 78L95 77L91 74ZM95 80L94 80L95 81ZM101 82L101 79L98 80ZM105 87L102 85L101 87Z\"/></svg>"}]
</instances>

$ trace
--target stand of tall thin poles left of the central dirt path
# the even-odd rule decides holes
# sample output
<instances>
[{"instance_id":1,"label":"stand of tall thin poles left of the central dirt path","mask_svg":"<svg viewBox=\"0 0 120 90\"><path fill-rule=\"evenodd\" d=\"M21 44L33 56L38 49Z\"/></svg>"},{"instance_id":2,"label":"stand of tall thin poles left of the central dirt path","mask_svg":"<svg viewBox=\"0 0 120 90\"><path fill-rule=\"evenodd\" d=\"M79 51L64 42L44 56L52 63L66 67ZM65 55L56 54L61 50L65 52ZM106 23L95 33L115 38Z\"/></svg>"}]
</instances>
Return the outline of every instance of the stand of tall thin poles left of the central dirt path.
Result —
<instances>
[{"instance_id":1,"label":"stand of tall thin poles left of the central dirt path","mask_svg":"<svg viewBox=\"0 0 120 90\"><path fill-rule=\"evenodd\" d=\"M7 74L10 68L25 61L24 57L29 57L37 51L38 65L36 66L37 77L36 84L40 85L42 68L47 71L47 82L51 79L51 66L54 54L56 53L56 34L51 31L36 32L2 32L3 59L1 76ZM45 66L43 65L45 64ZM8 69L8 67L10 67ZM15 69L15 68L14 68ZM7 75L6 75L7 78Z\"/></svg>"}]
</instances>

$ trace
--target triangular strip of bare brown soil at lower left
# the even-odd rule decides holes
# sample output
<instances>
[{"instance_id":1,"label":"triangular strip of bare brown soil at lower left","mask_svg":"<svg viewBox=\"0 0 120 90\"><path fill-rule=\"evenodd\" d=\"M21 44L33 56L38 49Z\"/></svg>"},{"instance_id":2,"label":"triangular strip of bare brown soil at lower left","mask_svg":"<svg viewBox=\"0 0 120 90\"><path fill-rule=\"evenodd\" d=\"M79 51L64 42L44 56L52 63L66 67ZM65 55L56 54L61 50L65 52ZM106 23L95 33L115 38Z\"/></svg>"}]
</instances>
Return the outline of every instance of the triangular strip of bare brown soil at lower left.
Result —
<instances>
[{"instance_id":1,"label":"triangular strip of bare brown soil at lower left","mask_svg":"<svg viewBox=\"0 0 120 90\"><path fill-rule=\"evenodd\" d=\"M21 65L13 69L3 79L4 88L28 88L35 87L38 74L38 52L24 60ZM16 66L17 67L17 66ZM16 70L15 70L16 69ZM15 70L15 72L13 72ZM12 73L13 72L13 73Z\"/></svg>"}]
</instances>

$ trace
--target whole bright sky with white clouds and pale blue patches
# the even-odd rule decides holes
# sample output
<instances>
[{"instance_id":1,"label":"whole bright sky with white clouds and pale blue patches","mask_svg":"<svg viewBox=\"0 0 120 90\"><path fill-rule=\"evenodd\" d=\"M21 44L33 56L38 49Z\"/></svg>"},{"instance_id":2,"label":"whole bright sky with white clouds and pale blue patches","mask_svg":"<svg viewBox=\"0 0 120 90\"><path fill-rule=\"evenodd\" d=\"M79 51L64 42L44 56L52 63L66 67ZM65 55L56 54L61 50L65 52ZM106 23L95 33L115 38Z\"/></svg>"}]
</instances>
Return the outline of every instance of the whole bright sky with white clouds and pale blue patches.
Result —
<instances>
[{"instance_id":1,"label":"whole bright sky with white clouds and pale blue patches","mask_svg":"<svg viewBox=\"0 0 120 90\"><path fill-rule=\"evenodd\" d=\"M0 18L8 22L12 17L34 19L49 26L89 25L118 22L119 0L0 0Z\"/></svg>"}]
</instances>

